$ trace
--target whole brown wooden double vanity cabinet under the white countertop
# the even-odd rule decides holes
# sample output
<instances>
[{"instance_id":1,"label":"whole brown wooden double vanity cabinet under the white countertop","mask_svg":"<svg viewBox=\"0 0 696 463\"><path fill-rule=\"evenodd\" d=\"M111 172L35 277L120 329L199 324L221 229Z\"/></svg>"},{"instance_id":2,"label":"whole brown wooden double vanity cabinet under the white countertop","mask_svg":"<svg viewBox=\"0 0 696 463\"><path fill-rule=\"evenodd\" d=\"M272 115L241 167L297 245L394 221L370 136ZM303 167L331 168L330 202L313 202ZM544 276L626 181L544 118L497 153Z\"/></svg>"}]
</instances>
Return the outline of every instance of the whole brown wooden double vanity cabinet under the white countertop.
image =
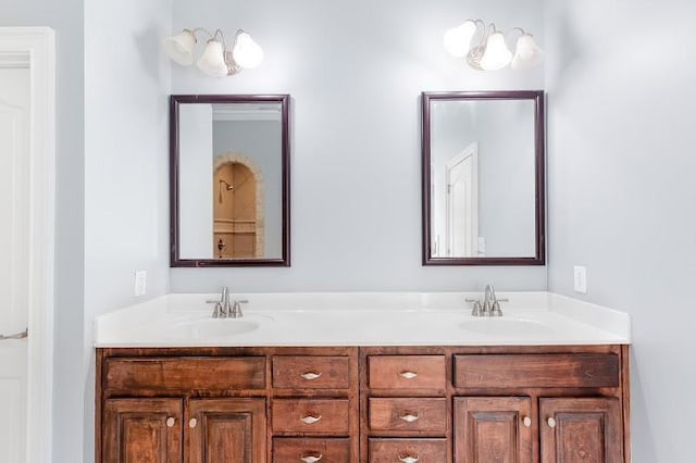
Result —
<instances>
[{"instance_id":1,"label":"whole brown wooden double vanity cabinet under the white countertop","mask_svg":"<svg viewBox=\"0 0 696 463\"><path fill-rule=\"evenodd\" d=\"M98 349L97 463L627 463L627 346Z\"/></svg>"}]
</instances>

